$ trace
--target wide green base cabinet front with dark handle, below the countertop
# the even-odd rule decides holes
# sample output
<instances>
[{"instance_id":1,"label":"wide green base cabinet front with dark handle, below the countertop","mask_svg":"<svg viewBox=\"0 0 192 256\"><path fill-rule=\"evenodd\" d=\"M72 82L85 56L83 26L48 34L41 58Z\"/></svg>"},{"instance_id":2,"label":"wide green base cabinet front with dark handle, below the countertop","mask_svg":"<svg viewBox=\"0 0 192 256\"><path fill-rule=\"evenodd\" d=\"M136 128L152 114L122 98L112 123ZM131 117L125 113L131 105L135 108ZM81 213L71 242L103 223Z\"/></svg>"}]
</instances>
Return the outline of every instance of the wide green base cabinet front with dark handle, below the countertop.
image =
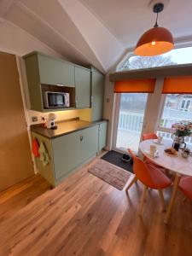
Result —
<instances>
[{"instance_id":1,"label":"wide green base cabinet front with dark handle, below the countertop","mask_svg":"<svg viewBox=\"0 0 192 256\"><path fill-rule=\"evenodd\" d=\"M98 125L76 131L52 140L55 179L67 176L91 156L98 148Z\"/></svg>"}]
</instances>

